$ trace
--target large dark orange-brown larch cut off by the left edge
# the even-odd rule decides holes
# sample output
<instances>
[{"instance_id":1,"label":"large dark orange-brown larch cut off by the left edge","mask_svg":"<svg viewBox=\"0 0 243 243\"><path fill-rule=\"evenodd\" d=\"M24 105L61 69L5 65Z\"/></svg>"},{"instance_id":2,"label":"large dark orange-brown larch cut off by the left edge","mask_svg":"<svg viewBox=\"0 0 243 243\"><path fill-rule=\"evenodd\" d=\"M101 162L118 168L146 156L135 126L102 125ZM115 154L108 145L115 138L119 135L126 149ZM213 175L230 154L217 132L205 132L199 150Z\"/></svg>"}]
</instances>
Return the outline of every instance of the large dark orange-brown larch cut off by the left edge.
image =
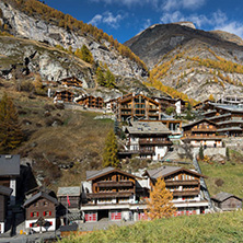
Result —
<instances>
[{"instance_id":1,"label":"large dark orange-brown larch cut off by the left edge","mask_svg":"<svg viewBox=\"0 0 243 243\"><path fill-rule=\"evenodd\" d=\"M16 108L7 93L0 101L0 152L8 153L23 141Z\"/></svg>"}]
</instances>

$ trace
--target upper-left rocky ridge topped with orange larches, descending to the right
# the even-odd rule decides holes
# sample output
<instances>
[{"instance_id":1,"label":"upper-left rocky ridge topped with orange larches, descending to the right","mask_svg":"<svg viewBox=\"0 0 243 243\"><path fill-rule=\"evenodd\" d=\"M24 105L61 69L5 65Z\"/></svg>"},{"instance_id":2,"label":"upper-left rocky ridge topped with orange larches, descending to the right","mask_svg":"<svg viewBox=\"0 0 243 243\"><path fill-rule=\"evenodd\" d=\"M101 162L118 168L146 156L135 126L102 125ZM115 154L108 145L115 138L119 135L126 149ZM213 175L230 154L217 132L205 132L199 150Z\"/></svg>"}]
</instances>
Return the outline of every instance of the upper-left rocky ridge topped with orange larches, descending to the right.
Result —
<instances>
[{"instance_id":1,"label":"upper-left rocky ridge topped with orange larches, descending to the right","mask_svg":"<svg viewBox=\"0 0 243 243\"><path fill-rule=\"evenodd\" d=\"M14 36L60 45L73 51L85 44L94 60L107 65L116 76L141 78L147 74L142 61L112 36L37 0L1 1L0 21L4 31Z\"/></svg>"}]
</instances>

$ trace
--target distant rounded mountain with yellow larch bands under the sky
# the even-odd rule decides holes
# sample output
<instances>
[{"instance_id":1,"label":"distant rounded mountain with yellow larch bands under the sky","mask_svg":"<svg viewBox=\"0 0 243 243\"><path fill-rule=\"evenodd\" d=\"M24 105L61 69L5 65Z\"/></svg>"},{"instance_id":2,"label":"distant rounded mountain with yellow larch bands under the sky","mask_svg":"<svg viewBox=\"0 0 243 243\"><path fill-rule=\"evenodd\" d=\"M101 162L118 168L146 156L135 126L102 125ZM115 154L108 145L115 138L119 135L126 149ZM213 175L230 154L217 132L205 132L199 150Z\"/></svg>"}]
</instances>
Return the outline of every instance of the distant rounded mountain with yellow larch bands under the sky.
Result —
<instances>
[{"instance_id":1,"label":"distant rounded mountain with yellow larch bands under the sky","mask_svg":"<svg viewBox=\"0 0 243 243\"><path fill-rule=\"evenodd\" d=\"M181 24L153 25L126 43L151 69L150 84L177 89L195 100L240 94L243 47L240 37Z\"/></svg>"}]
</instances>

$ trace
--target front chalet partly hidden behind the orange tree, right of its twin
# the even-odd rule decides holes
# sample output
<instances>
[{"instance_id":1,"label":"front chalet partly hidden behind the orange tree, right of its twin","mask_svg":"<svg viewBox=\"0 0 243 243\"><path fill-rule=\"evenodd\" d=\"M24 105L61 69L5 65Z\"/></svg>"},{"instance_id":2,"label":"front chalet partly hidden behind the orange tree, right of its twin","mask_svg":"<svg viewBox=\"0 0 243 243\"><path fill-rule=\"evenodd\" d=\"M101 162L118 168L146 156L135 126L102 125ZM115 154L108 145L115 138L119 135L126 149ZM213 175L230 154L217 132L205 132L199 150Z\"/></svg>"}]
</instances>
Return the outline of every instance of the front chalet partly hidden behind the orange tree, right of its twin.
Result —
<instances>
[{"instance_id":1,"label":"front chalet partly hidden behind the orange tree, right of its twin","mask_svg":"<svg viewBox=\"0 0 243 243\"><path fill-rule=\"evenodd\" d=\"M200 178L204 175L177 166L161 166L154 170L147 170L143 174L149 180L150 189L158 178L163 178L165 186L173 192L173 204L177 208L175 216L200 215L208 209L209 202L201 196Z\"/></svg>"}]
</instances>

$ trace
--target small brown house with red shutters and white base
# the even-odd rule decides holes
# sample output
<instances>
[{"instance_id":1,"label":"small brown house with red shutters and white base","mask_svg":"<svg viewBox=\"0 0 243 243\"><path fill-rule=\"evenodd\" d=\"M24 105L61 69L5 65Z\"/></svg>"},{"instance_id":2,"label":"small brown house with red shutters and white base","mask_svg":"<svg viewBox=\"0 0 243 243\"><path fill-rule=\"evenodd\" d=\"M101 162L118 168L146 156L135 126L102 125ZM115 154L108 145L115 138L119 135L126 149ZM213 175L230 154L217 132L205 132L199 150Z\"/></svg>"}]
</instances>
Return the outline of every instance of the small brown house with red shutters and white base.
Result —
<instances>
[{"instance_id":1,"label":"small brown house with red shutters and white base","mask_svg":"<svg viewBox=\"0 0 243 243\"><path fill-rule=\"evenodd\" d=\"M44 192L28 198L25 208L25 229L35 232L56 230L56 198Z\"/></svg>"}]
</instances>

